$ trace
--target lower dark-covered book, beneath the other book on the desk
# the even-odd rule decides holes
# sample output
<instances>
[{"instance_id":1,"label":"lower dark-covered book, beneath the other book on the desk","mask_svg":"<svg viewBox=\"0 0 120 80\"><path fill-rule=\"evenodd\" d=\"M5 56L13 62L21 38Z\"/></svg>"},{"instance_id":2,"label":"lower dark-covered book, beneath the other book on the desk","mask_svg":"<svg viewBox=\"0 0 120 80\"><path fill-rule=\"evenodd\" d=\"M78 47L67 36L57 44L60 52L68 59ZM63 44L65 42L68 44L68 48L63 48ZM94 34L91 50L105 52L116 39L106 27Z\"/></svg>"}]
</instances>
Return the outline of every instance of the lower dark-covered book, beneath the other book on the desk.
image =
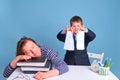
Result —
<instances>
[{"instance_id":1,"label":"lower dark-covered book, beneath the other book on the desk","mask_svg":"<svg viewBox=\"0 0 120 80\"><path fill-rule=\"evenodd\" d=\"M22 71L49 71L51 69L51 62L47 60L45 66L21 66Z\"/></svg>"}]
</instances>

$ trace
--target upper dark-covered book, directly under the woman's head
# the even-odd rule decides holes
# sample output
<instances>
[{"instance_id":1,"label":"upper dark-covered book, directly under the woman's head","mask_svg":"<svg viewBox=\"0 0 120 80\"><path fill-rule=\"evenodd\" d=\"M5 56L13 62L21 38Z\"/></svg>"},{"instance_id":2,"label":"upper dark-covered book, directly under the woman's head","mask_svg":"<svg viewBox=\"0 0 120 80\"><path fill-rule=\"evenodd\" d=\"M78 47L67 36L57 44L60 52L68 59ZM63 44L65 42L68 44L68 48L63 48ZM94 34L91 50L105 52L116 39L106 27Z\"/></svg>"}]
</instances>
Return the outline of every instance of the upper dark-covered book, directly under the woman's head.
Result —
<instances>
[{"instance_id":1,"label":"upper dark-covered book, directly under the woman's head","mask_svg":"<svg viewBox=\"0 0 120 80\"><path fill-rule=\"evenodd\" d=\"M36 57L29 60L21 60L17 62L17 66L44 66L47 61L45 57Z\"/></svg>"}]
</instances>

